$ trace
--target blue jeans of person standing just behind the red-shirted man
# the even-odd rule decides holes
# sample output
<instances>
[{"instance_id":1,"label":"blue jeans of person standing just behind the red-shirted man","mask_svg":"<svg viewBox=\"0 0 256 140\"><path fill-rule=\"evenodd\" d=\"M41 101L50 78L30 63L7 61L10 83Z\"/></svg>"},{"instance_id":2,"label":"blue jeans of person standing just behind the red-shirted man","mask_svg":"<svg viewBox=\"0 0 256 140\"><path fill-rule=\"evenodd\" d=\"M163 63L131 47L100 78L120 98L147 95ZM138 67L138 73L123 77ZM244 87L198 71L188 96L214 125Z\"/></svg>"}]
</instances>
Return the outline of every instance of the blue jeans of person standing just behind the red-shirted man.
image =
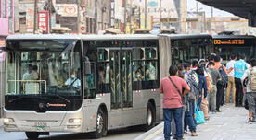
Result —
<instances>
[{"instance_id":1,"label":"blue jeans of person standing just behind the red-shirted man","mask_svg":"<svg viewBox=\"0 0 256 140\"><path fill-rule=\"evenodd\" d=\"M185 118L184 118L184 130L187 131L187 125L190 132L196 132L196 123L194 120L194 112L195 112L195 101L189 101L189 110L185 111Z\"/></svg>"}]
</instances>

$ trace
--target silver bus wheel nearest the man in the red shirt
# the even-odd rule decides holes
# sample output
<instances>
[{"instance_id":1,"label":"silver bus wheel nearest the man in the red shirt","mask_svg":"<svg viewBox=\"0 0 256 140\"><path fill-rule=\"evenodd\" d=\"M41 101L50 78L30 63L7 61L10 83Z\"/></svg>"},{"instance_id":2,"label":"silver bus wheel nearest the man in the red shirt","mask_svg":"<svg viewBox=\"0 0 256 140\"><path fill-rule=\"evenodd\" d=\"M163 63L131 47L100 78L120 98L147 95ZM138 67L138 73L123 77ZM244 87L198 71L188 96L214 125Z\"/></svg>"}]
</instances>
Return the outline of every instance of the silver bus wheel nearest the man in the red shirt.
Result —
<instances>
[{"instance_id":1,"label":"silver bus wheel nearest the man in the red shirt","mask_svg":"<svg viewBox=\"0 0 256 140\"><path fill-rule=\"evenodd\" d=\"M146 125L144 125L144 130L148 131L156 125L156 111L152 103L147 103L147 118Z\"/></svg>"}]
</instances>

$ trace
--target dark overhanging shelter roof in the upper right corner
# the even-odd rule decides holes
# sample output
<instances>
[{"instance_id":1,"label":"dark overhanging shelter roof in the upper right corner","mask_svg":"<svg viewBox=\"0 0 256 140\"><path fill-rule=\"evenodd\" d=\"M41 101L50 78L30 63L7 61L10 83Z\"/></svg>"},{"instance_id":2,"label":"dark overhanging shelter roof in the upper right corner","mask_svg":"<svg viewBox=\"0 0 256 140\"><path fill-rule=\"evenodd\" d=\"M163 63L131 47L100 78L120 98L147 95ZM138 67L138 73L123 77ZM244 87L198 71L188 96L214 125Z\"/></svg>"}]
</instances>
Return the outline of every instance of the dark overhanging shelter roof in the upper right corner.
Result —
<instances>
[{"instance_id":1,"label":"dark overhanging shelter roof in the upper right corner","mask_svg":"<svg viewBox=\"0 0 256 140\"><path fill-rule=\"evenodd\" d=\"M198 2L246 18L250 26L256 27L256 0L198 0Z\"/></svg>"}]
</instances>

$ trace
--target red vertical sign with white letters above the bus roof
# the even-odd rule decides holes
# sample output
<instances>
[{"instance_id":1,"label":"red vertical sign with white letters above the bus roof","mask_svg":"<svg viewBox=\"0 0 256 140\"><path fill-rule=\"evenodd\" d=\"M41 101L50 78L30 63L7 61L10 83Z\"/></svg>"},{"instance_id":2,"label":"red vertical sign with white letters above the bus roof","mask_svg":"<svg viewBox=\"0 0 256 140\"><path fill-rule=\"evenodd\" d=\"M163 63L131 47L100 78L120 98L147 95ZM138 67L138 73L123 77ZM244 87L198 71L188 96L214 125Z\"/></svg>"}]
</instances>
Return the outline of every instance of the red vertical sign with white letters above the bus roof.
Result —
<instances>
[{"instance_id":1,"label":"red vertical sign with white letters above the bus roof","mask_svg":"<svg viewBox=\"0 0 256 140\"><path fill-rule=\"evenodd\" d=\"M38 29L41 33L49 32L49 12L39 11L38 12Z\"/></svg>"}]
</instances>

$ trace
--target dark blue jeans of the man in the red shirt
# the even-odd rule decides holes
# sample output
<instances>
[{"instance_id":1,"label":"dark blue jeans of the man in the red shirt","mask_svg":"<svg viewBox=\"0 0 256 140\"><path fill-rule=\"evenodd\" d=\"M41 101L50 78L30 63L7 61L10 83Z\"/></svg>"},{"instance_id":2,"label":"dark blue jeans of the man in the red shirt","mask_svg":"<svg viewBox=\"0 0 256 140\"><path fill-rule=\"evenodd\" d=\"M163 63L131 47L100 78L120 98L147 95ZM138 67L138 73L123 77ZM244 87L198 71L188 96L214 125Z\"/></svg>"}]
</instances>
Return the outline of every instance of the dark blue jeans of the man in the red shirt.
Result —
<instances>
[{"instance_id":1,"label":"dark blue jeans of the man in the red shirt","mask_svg":"<svg viewBox=\"0 0 256 140\"><path fill-rule=\"evenodd\" d=\"M183 107L181 108L164 108L163 109L163 120L164 120L164 128L163 134L165 140L170 140L171 138L171 122L172 116L174 118L174 122L176 125L176 139L182 138L182 111Z\"/></svg>"}]
</instances>

